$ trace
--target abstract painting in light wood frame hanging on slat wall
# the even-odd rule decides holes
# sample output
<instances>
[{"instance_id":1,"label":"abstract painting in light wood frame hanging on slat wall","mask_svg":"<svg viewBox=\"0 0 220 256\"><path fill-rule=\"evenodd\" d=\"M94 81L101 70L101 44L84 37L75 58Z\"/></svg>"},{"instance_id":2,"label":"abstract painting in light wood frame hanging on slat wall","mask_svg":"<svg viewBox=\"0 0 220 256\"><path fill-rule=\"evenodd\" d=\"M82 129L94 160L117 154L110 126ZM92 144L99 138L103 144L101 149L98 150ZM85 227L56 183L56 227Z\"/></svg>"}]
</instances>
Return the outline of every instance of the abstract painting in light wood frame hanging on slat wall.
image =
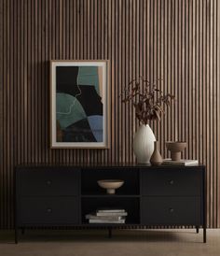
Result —
<instances>
[{"instance_id":1,"label":"abstract painting in light wood frame hanging on slat wall","mask_svg":"<svg viewBox=\"0 0 220 256\"><path fill-rule=\"evenodd\" d=\"M50 147L108 148L108 61L50 62Z\"/></svg>"}]
</instances>

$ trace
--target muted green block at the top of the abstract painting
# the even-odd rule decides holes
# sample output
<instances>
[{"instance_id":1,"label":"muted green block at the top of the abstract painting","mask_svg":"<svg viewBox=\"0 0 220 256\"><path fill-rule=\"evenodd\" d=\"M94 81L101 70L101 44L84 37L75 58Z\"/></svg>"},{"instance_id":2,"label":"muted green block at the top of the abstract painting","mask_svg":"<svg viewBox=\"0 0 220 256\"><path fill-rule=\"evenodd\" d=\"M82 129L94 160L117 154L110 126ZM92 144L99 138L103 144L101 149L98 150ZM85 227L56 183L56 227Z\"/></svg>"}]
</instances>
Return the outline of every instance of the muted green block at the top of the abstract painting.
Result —
<instances>
[{"instance_id":1,"label":"muted green block at the top of the abstract painting","mask_svg":"<svg viewBox=\"0 0 220 256\"><path fill-rule=\"evenodd\" d=\"M78 85L93 85L100 94L98 66L79 66L77 81Z\"/></svg>"}]
</instances>

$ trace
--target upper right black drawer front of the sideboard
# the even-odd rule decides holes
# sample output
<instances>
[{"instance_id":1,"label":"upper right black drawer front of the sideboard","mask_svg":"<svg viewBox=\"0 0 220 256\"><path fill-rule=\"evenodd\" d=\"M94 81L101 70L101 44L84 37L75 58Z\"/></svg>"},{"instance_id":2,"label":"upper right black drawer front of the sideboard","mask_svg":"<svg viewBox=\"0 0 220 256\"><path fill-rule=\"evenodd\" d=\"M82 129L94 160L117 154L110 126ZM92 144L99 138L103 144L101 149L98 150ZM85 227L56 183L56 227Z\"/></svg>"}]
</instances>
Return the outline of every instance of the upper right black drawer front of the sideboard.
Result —
<instances>
[{"instance_id":1,"label":"upper right black drawer front of the sideboard","mask_svg":"<svg viewBox=\"0 0 220 256\"><path fill-rule=\"evenodd\" d=\"M201 195L200 170L142 170L143 195Z\"/></svg>"}]
</instances>

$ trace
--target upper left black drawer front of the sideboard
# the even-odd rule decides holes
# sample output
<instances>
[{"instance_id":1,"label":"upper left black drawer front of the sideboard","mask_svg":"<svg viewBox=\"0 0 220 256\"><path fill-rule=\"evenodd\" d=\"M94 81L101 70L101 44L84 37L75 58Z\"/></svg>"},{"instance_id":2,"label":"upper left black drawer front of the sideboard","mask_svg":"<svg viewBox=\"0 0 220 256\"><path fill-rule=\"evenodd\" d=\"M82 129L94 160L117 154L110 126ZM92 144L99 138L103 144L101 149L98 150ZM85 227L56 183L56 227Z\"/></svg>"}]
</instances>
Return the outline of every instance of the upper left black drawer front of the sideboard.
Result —
<instances>
[{"instance_id":1,"label":"upper left black drawer front of the sideboard","mask_svg":"<svg viewBox=\"0 0 220 256\"><path fill-rule=\"evenodd\" d=\"M35 168L17 170L19 195L77 195L79 194L79 170Z\"/></svg>"}]
</instances>

